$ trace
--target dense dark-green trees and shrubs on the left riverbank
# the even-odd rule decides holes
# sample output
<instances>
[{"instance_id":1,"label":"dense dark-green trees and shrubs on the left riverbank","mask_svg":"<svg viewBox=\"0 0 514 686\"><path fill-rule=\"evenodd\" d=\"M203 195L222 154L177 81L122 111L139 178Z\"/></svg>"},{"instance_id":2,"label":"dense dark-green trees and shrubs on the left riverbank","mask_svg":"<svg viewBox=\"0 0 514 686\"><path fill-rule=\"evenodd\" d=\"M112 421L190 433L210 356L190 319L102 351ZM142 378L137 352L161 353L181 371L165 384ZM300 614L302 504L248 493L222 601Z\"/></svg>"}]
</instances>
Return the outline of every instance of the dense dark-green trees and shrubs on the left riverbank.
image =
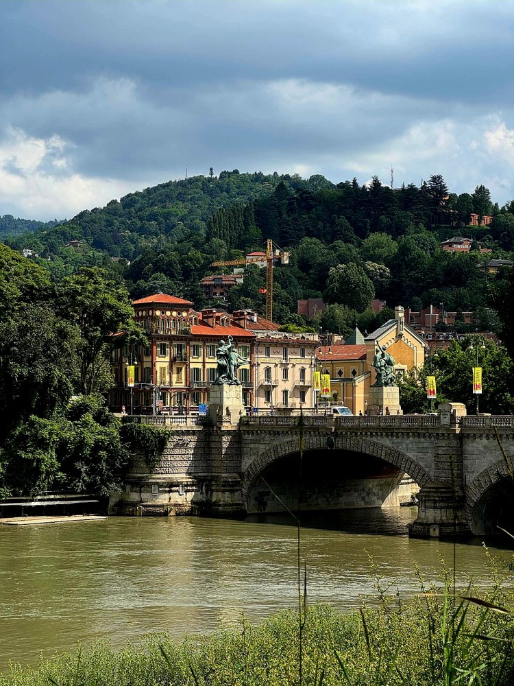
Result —
<instances>
[{"instance_id":1,"label":"dense dark-green trees and shrubs on the left riverbank","mask_svg":"<svg viewBox=\"0 0 514 686\"><path fill-rule=\"evenodd\" d=\"M99 269L52 284L47 270L2 244L0 266L1 495L107 495L130 443L103 401L108 357L144 340L128 292Z\"/></svg>"}]
</instances>

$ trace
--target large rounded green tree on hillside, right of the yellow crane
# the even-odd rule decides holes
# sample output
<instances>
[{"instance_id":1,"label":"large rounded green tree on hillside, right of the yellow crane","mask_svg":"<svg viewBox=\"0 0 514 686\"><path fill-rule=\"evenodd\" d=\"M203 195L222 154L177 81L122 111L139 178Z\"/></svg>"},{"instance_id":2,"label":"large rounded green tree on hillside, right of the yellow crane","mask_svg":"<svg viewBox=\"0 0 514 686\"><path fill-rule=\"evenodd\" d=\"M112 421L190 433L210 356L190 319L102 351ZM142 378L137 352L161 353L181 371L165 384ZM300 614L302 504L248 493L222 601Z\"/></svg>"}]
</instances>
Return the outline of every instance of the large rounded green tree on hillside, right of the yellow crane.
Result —
<instances>
[{"instance_id":1,"label":"large rounded green tree on hillside, right of the yellow crane","mask_svg":"<svg viewBox=\"0 0 514 686\"><path fill-rule=\"evenodd\" d=\"M328 272L325 298L327 303L340 303L363 311L374 298L375 289L360 265L339 264Z\"/></svg>"}]
</instances>

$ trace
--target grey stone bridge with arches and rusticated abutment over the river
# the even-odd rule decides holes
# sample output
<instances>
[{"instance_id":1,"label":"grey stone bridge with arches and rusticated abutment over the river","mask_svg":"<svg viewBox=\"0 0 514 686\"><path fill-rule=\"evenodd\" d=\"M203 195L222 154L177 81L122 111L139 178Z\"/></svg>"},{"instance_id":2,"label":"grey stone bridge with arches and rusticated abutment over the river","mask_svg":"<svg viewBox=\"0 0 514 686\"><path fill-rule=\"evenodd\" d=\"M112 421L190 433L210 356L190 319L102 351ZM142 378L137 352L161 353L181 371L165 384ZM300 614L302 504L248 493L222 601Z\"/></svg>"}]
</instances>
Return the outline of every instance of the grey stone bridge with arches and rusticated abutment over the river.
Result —
<instances>
[{"instance_id":1,"label":"grey stone bridge with arches and rusticated abutment over the river","mask_svg":"<svg viewBox=\"0 0 514 686\"><path fill-rule=\"evenodd\" d=\"M448 407L449 406L449 407ZM485 534L514 523L514 417L261 416L173 425L162 460L136 456L113 506L127 514L387 507L419 500L411 536Z\"/></svg>"}]
</instances>

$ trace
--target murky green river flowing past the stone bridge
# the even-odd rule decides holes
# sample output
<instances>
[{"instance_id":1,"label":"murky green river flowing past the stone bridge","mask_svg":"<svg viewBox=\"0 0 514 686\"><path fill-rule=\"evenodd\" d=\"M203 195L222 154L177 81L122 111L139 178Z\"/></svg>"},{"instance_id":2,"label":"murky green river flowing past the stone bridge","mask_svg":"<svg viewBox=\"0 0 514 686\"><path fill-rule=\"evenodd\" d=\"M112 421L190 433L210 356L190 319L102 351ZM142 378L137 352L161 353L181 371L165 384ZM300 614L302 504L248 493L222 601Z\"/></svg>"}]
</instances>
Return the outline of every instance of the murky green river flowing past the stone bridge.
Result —
<instances>
[{"instance_id":1,"label":"murky green river flowing past the stone bridge","mask_svg":"<svg viewBox=\"0 0 514 686\"><path fill-rule=\"evenodd\" d=\"M439 579L440 551L453 546L406 535L415 508L343 510L302 516L302 559L310 602L353 608L372 595L367 553L391 593L419 591L414 563ZM80 641L115 647L147 632L180 638L265 617L293 606L297 530L291 518L243 521L203 517L0 525L0 671L10 660L35 665L39 654L73 650ZM512 552L491 549L512 559ZM480 579L480 541L456 545L458 573Z\"/></svg>"}]
</instances>

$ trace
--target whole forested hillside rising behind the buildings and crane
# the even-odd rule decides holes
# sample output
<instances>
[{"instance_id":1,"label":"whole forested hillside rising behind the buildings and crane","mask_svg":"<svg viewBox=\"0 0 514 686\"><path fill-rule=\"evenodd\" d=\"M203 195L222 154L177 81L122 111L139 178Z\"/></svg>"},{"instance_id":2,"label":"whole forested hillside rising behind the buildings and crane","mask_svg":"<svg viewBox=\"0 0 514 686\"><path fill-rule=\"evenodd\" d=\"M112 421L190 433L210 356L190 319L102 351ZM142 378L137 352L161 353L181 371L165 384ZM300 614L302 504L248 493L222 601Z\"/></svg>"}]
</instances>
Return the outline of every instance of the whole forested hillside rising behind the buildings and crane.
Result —
<instances>
[{"instance_id":1,"label":"whole forested hillside rising behind the buildings and crane","mask_svg":"<svg viewBox=\"0 0 514 686\"><path fill-rule=\"evenodd\" d=\"M472 250L441 250L440 242L452 236L473 239ZM368 307L377 297L391 307L443 303L450 311L481 313L487 330L501 328L490 308L502 309L500 294L510 286L499 283L501 272L488 276L479 265L514 260L514 202L500 208L483 185L457 196L440 175L421 187L391 189L376 177L367 185L356 179L334 185L319 175L304 180L223 171L219 178L197 176L130 193L5 242L36 250L56 281L101 265L118 272L134 298L162 291L200 308L208 303L199 280L219 273L210 263L260 249L267 238L291 251L289 265L275 270L273 311L282 324L305 324L297 299L322 297L330 305L317 322L324 329L344 335L358 320L371 331L377 322ZM82 242L66 247L72 239ZM228 305L263 311L263 289L264 270L250 266Z\"/></svg>"}]
</instances>

